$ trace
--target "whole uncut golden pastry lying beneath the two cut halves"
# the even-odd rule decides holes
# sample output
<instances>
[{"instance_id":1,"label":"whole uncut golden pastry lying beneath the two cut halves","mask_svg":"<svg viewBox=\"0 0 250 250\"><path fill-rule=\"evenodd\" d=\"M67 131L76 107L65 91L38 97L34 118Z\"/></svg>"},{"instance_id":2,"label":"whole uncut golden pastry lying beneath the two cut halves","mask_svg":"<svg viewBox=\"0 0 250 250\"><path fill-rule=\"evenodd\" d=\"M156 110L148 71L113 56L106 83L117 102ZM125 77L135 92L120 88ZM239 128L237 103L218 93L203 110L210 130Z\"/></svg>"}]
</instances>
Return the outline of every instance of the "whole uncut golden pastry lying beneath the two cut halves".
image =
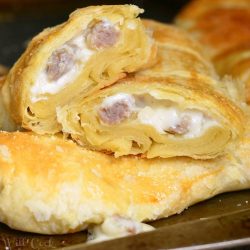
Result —
<instances>
[{"instance_id":1,"label":"whole uncut golden pastry lying beneath the two cut halves","mask_svg":"<svg viewBox=\"0 0 250 250\"><path fill-rule=\"evenodd\" d=\"M180 213L250 187L249 134L237 149L204 161L114 158L55 136L1 132L0 221L62 234L114 215L140 222Z\"/></svg>"}]
</instances>

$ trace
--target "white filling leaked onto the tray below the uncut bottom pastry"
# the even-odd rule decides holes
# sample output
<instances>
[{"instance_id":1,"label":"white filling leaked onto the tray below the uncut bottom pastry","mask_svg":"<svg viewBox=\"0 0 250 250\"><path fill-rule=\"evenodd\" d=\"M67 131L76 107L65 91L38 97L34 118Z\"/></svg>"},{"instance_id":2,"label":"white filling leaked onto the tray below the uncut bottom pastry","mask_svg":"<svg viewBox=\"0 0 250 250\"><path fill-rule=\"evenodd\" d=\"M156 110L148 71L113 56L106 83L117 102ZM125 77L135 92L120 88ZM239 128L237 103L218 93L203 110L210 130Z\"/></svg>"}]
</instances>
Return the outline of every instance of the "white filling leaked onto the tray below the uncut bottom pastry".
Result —
<instances>
[{"instance_id":1,"label":"white filling leaked onto the tray below the uncut bottom pastry","mask_svg":"<svg viewBox=\"0 0 250 250\"><path fill-rule=\"evenodd\" d=\"M114 215L108 217L101 225L96 225L88 231L88 242L99 242L114 238L134 235L154 230L145 223Z\"/></svg>"}]
</instances>

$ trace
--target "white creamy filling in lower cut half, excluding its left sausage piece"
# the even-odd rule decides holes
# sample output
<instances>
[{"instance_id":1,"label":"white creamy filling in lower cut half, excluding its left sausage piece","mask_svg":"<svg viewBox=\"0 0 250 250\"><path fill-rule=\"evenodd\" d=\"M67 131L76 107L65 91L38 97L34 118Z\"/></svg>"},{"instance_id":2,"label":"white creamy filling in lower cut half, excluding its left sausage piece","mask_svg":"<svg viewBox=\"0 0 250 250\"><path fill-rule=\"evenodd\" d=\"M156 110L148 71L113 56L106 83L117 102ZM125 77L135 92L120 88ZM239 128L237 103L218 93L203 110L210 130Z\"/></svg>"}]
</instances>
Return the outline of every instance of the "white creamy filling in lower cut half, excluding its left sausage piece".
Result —
<instances>
[{"instance_id":1,"label":"white creamy filling in lower cut half, excluding its left sausage piece","mask_svg":"<svg viewBox=\"0 0 250 250\"><path fill-rule=\"evenodd\" d=\"M129 104L127 106L137 114L137 122L152 126L160 134L178 134L179 130L180 135L193 138L200 136L210 127L220 126L216 120L208 117L202 111L181 110L171 101L158 100L150 95L137 96L118 93L105 98L101 107L112 107L121 101Z\"/></svg>"}]
</instances>

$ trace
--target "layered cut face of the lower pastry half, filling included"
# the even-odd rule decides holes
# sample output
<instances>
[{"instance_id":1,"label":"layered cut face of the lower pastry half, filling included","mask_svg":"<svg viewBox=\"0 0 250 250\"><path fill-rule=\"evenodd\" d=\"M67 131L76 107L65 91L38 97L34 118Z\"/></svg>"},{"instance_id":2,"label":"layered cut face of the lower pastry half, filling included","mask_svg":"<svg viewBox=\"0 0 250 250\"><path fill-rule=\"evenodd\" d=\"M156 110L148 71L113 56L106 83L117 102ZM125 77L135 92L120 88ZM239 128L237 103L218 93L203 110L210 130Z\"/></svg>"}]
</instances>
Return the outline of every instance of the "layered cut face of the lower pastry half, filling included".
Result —
<instances>
[{"instance_id":1,"label":"layered cut face of the lower pastry half, filling included","mask_svg":"<svg viewBox=\"0 0 250 250\"><path fill-rule=\"evenodd\" d=\"M57 110L63 131L80 145L147 158L213 158L237 141L242 112L205 79L131 78L76 106Z\"/></svg>"}]
</instances>

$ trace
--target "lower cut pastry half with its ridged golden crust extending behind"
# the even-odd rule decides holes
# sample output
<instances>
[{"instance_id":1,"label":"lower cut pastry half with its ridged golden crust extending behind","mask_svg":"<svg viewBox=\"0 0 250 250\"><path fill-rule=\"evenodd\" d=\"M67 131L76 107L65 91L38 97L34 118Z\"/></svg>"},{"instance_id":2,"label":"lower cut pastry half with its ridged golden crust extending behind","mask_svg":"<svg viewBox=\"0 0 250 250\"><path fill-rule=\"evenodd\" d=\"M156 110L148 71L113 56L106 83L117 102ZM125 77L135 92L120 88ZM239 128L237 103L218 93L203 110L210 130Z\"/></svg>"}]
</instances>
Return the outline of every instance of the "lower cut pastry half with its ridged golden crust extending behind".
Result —
<instances>
[{"instance_id":1,"label":"lower cut pastry half with its ridged golden crust extending behind","mask_svg":"<svg viewBox=\"0 0 250 250\"><path fill-rule=\"evenodd\" d=\"M79 144L116 157L214 158L242 135L244 118L199 45L172 26L144 21L158 63L57 109Z\"/></svg>"}]
</instances>

